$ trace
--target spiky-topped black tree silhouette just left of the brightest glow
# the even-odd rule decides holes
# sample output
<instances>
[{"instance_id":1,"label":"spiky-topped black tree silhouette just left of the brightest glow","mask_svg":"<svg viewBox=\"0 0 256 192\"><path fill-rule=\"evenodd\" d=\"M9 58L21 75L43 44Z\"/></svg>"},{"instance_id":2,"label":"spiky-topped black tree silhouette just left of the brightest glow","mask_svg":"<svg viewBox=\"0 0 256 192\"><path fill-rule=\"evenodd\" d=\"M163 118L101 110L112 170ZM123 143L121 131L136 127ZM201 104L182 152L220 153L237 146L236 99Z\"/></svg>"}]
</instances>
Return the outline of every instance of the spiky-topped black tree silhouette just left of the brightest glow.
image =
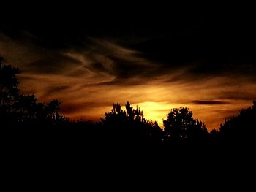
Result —
<instances>
[{"instance_id":1,"label":"spiky-topped black tree silhouette just left of the brightest glow","mask_svg":"<svg viewBox=\"0 0 256 192\"><path fill-rule=\"evenodd\" d=\"M113 109L101 119L102 125L108 131L112 130L112 136L129 140L161 140L162 130L157 122L146 120L143 111L138 107L134 109L128 101L125 107L126 110L121 110L120 104L113 104Z\"/></svg>"}]
</instances>

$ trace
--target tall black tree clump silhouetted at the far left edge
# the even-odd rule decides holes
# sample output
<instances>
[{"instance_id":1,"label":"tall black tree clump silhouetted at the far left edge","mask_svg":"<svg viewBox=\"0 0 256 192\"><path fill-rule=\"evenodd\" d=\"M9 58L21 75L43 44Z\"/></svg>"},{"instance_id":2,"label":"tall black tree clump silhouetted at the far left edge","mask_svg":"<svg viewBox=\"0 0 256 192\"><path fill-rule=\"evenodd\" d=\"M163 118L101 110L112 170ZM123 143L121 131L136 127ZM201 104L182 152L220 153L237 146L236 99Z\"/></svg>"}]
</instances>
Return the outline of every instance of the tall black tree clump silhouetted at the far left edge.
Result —
<instances>
[{"instance_id":1,"label":"tall black tree clump silhouetted at the far left edge","mask_svg":"<svg viewBox=\"0 0 256 192\"><path fill-rule=\"evenodd\" d=\"M67 120L59 115L61 104L57 99L43 104L37 101L35 95L23 95L18 90L19 80L16 74L19 70L2 63L0 55L0 120L8 126L13 123L56 123Z\"/></svg>"}]
</instances>

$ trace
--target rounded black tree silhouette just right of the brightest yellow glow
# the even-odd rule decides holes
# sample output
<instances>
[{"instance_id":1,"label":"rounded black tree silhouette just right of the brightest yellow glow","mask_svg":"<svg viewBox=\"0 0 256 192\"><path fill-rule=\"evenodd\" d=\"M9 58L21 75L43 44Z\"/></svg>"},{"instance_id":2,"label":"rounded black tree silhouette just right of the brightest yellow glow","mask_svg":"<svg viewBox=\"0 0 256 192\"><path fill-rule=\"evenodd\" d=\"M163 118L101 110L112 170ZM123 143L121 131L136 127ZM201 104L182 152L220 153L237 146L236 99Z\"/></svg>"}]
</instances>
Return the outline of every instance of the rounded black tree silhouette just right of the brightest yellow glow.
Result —
<instances>
[{"instance_id":1,"label":"rounded black tree silhouette just right of the brightest yellow glow","mask_svg":"<svg viewBox=\"0 0 256 192\"><path fill-rule=\"evenodd\" d=\"M208 131L201 120L195 120L193 113L187 107L174 108L167 114L163 121L165 139L200 139L204 138Z\"/></svg>"}]
</instances>

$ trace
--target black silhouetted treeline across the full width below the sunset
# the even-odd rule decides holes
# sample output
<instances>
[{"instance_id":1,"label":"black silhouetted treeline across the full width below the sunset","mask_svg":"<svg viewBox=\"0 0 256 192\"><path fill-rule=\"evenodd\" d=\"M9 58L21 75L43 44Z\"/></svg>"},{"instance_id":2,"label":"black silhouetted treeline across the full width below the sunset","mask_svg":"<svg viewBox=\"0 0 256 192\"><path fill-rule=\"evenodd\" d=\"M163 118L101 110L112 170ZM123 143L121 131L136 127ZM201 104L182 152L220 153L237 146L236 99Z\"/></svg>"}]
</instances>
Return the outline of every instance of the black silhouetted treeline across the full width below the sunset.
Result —
<instances>
[{"instance_id":1,"label":"black silhouetted treeline across the full width below the sunset","mask_svg":"<svg viewBox=\"0 0 256 192\"><path fill-rule=\"evenodd\" d=\"M0 125L4 131L12 130L17 137L38 137L63 141L104 142L159 142L221 141L253 139L256 128L256 101L252 107L241 110L236 117L225 120L219 130L209 132L202 120L193 118L187 107L170 110L163 121L146 120L139 107L127 102L125 110L120 104L97 123L69 120L59 113L61 102L45 104L34 95L23 95L18 90L18 69L2 64L0 57ZM55 137L55 138L53 138Z\"/></svg>"}]
</instances>

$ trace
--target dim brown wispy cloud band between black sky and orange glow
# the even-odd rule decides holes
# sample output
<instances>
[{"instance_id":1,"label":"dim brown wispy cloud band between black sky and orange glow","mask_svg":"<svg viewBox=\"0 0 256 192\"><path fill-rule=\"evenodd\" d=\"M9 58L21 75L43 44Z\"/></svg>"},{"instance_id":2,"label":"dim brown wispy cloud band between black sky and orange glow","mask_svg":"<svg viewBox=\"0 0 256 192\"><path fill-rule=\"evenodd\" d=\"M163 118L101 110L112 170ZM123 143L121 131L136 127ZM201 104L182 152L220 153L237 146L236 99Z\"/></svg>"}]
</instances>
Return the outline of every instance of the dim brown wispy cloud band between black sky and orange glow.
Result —
<instances>
[{"instance_id":1,"label":"dim brown wispy cloud band between black sky and orange glow","mask_svg":"<svg viewBox=\"0 0 256 192\"><path fill-rule=\"evenodd\" d=\"M22 65L23 70L29 72L66 73L76 76L89 71L95 75L111 75L113 83L134 77L151 80L161 75L173 74L178 70L184 70L184 73L176 77L171 75L170 82L179 79L202 80L223 75L247 77L248 80L255 82L256 66L253 58L230 58L214 53L198 52L199 48L206 50L206 47L198 47L195 44L193 45L196 47L186 46L189 43L186 43L186 39L178 41L173 37L151 37L144 38L142 42L129 40L124 46L122 39L118 41L121 37L105 39L82 37L80 34L78 39L76 37L59 39L61 45L67 43L69 46L50 48L43 46L44 42L54 42L52 40L56 36L57 34L48 34L42 37L37 36L37 33L23 31L20 39L14 40L1 34L3 46L0 49L6 49L2 54L7 55L5 56L7 59L15 54L17 58L15 64L20 62L21 64L18 65ZM140 37L143 39L143 36L136 36L135 39ZM81 66L87 71L80 72Z\"/></svg>"}]
</instances>

